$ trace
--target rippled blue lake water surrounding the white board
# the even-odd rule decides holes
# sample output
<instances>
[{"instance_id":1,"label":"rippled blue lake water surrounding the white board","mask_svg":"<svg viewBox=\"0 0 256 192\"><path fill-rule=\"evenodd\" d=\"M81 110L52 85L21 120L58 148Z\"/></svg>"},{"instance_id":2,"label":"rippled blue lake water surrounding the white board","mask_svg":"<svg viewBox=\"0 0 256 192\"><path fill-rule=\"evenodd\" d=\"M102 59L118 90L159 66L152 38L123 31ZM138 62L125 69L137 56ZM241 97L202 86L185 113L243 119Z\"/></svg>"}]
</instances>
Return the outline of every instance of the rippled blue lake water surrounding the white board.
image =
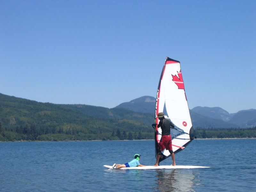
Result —
<instances>
[{"instance_id":1,"label":"rippled blue lake water surrounding the white board","mask_svg":"<svg viewBox=\"0 0 256 192\"><path fill-rule=\"evenodd\" d=\"M153 140L0 142L0 191L255 191L256 139L194 140L178 165L205 169L110 170L141 154L155 163ZM172 163L171 158L161 165Z\"/></svg>"}]
</instances>

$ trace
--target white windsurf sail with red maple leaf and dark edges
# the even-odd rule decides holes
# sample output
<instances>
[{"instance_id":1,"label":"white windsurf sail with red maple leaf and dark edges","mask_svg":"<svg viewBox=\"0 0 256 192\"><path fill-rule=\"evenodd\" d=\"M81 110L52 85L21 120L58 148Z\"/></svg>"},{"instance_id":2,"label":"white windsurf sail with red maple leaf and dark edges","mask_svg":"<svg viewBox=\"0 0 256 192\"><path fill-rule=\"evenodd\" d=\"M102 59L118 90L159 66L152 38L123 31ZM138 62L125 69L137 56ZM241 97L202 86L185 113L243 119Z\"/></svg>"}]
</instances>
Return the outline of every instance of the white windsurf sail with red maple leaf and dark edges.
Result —
<instances>
[{"instance_id":1,"label":"white windsurf sail with red maple leaf and dark edges","mask_svg":"<svg viewBox=\"0 0 256 192\"><path fill-rule=\"evenodd\" d=\"M175 129L171 130L172 150L174 153L178 153L186 148L195 137L180 69L180 61L173 60L169 57L166 57L164 62L156 93L156 124L160 121L157 118L157 114L160 112L164 112L165 118L170 119L175 125ZM162 137L161 133L161 128L156 127L156 155L160 152L158 150L158 143ZM161 155L159 162L170 156L168 150L164 149L161 152L163 155Z\"/></svg>"}]
</instances>

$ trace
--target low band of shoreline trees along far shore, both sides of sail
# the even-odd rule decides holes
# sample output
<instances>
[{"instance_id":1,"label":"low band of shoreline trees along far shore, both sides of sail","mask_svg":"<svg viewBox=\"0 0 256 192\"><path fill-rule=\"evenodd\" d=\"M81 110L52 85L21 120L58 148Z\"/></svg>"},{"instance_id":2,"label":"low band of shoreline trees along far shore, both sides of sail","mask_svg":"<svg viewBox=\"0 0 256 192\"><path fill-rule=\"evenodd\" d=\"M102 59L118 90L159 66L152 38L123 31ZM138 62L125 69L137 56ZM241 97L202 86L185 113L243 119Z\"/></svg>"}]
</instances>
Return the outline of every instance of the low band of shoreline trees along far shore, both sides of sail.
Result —
<instances>
[{"instance_id":1,"label":"low band of shoreline trees along far shore, both sides of sail","mask_svg":"<svg viewBox=\"0 0 256 192\"><path fill-rule=\"evenodd\" d=\"M197 128L194 130L198 139L207 138L256 138L256 126L252 128ZM148 140L154 139L154 132L129 131L119 128L112 132L102 128L94 132L86 128L74 126L37 126L25 124L16 127L4 128L0 122L0 141L68 141L68 140Z\"/></svg>"}]
</instances>

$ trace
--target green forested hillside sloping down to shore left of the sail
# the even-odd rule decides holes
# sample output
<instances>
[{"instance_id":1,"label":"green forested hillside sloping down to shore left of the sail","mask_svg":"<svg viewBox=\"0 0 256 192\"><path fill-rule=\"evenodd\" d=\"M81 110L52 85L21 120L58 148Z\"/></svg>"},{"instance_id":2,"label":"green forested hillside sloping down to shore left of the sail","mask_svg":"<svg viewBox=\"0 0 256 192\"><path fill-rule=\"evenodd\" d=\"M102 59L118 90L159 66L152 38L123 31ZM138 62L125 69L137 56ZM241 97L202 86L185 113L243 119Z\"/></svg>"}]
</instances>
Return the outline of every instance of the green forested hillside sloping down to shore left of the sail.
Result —
<instances>
[{"instance_id":1,"label":"green forested hillside sloping down to shore left of the sail","mask_svg":"<svg viewBox=\"0 0 256 192\"><path fill-rule=\"evenodd\" d=\"M0 93L0 140L153 139L153 120L122 108L57 105Z\"/></svg>"}]
</instances>

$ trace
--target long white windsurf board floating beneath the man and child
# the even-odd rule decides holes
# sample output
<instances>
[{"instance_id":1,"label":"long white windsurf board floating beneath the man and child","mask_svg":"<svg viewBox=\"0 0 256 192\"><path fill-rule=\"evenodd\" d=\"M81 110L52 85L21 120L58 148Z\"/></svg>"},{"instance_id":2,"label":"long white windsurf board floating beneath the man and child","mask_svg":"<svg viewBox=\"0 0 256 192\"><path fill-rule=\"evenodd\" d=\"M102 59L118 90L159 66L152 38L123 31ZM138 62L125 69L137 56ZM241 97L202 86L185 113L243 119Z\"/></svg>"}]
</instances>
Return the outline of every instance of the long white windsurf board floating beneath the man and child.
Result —
<instances>
[{"instance_id":1,"label":"long white windsurf board floating beneath the man and child","mask_svg":"<svg viewBox=\"0 0 256 192\"><path fill-rule=\"evenodd\" d=\"M109 169L113 169L110 165L103 165ZM192 165L160 165L160 166L143 166L143 167L125 167L121 169L195 169L195 168L210 168L210 167L203 167L203 166L192 166Z\"/></svg>"}]
</instances>

